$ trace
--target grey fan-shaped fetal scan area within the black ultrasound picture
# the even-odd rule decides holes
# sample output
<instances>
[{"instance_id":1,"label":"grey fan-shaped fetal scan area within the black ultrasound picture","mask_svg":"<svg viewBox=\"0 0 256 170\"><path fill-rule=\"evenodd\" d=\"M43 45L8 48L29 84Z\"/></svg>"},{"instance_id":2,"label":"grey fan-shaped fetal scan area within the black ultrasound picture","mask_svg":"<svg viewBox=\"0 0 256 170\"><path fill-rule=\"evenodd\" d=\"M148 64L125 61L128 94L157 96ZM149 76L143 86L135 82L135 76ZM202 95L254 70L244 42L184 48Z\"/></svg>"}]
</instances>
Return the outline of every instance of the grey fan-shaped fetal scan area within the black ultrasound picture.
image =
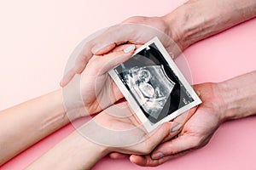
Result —
<instances>
[{"instance_id":1,"label":"grey fan-shaped fetal scan area within the black ultrasound picture","mask_svg":"<svg viewBox=\"0 0 256 170\"><path fill-rule=\"evenodd\" d=\"M123 76L139 105L157 119L175 85L166 76L163 65L135 66Z\"/></svg>"}]
</instances>

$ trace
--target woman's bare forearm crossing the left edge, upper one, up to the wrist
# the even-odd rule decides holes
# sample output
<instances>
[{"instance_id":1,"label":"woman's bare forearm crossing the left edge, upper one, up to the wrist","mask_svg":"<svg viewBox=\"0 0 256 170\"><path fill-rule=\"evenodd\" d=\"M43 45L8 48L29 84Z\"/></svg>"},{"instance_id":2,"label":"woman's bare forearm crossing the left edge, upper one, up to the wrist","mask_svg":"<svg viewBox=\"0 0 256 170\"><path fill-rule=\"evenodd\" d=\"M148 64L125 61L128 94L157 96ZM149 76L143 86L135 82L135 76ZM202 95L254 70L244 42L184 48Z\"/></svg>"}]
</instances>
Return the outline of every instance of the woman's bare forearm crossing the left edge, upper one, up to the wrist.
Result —
<instances>
[{"instance_id":1,"label":"woman's bare forearm crossing the left edge, upper one, up to the wrist","mask_svg":"<svg viewBox=\"0 0 256 170\"><path fill-rule=\"evenodd\" d=\"M0 165L68 123L61 89L0 112Z\"/></svg>"}]
</instances>

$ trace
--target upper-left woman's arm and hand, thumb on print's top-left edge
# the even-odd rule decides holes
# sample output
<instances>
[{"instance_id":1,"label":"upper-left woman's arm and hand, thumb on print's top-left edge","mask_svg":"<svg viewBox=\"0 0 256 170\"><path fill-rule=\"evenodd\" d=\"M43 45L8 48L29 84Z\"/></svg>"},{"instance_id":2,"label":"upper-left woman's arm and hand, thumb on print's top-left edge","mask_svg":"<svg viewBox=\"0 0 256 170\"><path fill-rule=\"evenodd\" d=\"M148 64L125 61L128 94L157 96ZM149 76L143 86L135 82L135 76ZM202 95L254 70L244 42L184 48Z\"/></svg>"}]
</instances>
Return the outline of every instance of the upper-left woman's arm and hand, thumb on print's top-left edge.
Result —
<instances>
[{"instance_id":1,"label":"upper-left woman's arm and hand, thumb on print's top-left edge","mask_svg":"<svg viewBox=\"0 0 256 170\"><path fill-rule=\"evenodd\" d=\"M102 111L123 98L108 76L108 70L131 57L135 49L134 45L131 46L116 48L104 57L94 55L81 79L78 82L73 79L63 89L63 94L67 95L62 95L59 89L0 111L0 165L68 122ZM125 53L127 47L131 47L131 50ZM99 65L102 69L96 69ZM75 89L80 80L83 88ZM99 99L104 99L104 103Z\"/></svg>"}]
</instances>

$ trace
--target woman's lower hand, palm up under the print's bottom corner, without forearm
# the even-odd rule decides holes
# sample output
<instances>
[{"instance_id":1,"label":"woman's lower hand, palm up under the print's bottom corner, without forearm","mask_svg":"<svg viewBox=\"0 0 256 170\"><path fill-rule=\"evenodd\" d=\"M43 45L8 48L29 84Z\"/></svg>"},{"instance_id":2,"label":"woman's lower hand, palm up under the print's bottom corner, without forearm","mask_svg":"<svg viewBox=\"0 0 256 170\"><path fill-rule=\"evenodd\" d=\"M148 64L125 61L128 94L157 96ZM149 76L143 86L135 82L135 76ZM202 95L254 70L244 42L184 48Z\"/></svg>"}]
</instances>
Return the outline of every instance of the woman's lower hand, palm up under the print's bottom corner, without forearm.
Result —
<instances>
[{"instance_id":1,"label":"woman's lower hand, palm up under the print's bottom corner, without forearm","mask_svg":"<svg viewBox=\"0 0 256 170\"><path fill-rule=\"evenodd\" d=\"M166 122L148 133L127 102L123 102L96 115L79 132L93 143L105 146L108 152L145 155L168 138L176 126L176 122Z\"/></svg>"}]
</instances>

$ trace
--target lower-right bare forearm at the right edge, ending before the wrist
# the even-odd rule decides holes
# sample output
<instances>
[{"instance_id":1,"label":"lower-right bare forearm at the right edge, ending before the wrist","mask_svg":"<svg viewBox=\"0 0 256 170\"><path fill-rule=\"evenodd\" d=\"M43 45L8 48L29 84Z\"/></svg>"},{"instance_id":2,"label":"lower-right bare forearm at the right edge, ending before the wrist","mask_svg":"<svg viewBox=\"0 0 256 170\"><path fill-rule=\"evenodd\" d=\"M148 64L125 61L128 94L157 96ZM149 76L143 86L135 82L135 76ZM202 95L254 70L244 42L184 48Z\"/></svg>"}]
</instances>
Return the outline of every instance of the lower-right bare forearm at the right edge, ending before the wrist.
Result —
<instances>
[{"instance_id":1,"label":"lower-right bare forearm at the right edge, ending before the wrist","mask_svg":"<svg viewBox=\"0 0 256 170\"><path fill-rule=\"evenodd\" d=\"M256 71L218 84L224 121L256 114Z\"/></svg>"}]
</instances>

